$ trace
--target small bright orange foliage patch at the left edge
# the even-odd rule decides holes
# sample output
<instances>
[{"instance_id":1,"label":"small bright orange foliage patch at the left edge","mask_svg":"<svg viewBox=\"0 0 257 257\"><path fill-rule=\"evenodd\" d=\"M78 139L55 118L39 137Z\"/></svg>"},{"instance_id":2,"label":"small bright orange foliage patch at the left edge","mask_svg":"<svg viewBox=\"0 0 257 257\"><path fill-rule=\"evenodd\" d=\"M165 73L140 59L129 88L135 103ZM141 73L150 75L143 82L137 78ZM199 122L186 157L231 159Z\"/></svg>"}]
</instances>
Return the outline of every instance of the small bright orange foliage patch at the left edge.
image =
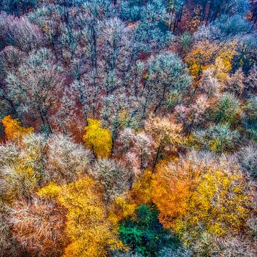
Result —
<instances>
[{"instance_id":1,"label":"small bright orange foliage patch at the left edge","mask_svg":"<svg viewBox=\"0 0 257 257\"><path fill-rule=\"evenodd\" d=\"M9 140L21 140L22 136L32 133L34 128L24 128L17 119L12 119L11 115L5 116L2 120L6 138Z\"/></svg>"}]
</instances>

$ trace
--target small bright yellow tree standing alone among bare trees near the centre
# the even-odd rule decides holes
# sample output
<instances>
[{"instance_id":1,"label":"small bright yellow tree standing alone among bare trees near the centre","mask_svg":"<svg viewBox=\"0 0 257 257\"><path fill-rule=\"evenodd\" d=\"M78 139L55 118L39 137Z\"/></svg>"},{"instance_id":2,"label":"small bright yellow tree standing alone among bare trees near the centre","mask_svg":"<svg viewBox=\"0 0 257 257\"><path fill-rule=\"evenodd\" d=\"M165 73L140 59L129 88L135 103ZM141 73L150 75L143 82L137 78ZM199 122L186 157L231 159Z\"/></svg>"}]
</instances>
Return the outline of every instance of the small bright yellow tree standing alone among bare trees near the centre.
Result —
<instances>
[{"instance_id":1,"label":"small bright yellow tree standing alone among bare trees near the centre","mask_svg":"<svg viewBox=\"0 0 257 257\"><path fill-rule=\"evenodd\" d=\"M91 148L96 156L105 158L111 154L112 140L109 129L103 129L102 122L88 119L89 125L85 127L83 140L85 145Z\"/></svg>"}]
</instances>

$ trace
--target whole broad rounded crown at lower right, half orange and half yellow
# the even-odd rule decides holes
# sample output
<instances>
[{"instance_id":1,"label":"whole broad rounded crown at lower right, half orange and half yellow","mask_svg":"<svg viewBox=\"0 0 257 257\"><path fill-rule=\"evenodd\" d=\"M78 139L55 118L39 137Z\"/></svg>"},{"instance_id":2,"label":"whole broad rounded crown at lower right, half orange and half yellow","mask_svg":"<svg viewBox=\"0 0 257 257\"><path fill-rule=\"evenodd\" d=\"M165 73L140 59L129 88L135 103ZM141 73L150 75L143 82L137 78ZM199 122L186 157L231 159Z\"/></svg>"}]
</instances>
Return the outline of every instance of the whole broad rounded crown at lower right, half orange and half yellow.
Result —
<instances>
[{"instance_id":1,"label":"whole broad rounded crown at lower right, half orange and half yellow","mask_svg":"<svg viewBox=\"0 0 257 257\"><path fill-rule=\"evenodd\" d=\"M195 157L158 167L152 186L161 223L185 243L206 232L226 236L240 230L251 206L246 181L233 162Z\"/></svg>"}]
</instances>

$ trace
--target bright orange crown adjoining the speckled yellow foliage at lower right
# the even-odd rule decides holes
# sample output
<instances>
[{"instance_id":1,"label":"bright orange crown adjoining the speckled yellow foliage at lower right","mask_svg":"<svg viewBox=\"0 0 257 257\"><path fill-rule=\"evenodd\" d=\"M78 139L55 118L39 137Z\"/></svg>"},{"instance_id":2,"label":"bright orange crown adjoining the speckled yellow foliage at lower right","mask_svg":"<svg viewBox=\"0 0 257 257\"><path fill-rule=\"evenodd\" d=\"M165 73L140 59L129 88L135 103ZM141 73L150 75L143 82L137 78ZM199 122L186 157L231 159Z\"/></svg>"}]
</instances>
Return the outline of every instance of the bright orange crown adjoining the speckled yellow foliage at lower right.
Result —
<instances>
[{"instance_id":1,"label":"bright orange crown adjoining the speckled yellow foliage at lower right","mask_svg":"<svg viewBox=\"0 0 257 257\"><path fill-rule=\"evenodd\" d=\"M178 163L163 162L156 167L151 197L160 211L158 218L164 228L175 228L177 219L186 215L188 199L205 166L204 159L192 152L187 158L180 158Z\"/></svg>"}]
</instances>

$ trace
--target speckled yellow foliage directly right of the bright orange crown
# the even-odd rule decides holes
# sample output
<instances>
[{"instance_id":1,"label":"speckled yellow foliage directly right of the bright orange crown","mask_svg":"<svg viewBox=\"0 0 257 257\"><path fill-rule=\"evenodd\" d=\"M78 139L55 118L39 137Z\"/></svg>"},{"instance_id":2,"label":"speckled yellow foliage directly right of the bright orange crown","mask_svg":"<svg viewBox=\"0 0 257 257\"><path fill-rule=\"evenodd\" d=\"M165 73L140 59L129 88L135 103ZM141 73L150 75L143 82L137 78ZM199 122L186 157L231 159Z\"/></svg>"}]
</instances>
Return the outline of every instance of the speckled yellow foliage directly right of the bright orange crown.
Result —
<instances>
[{"instance_id":1,"label":"speckled yellow foliage directly right of the bright orange crown","mask_svg":"<svg viewBox=\"0 0 257 257\"><path fill-rule=\"evenodd\" d=\"M188 212L175 230L185 236L183 231L192 228L198 231L204 224L206 231L216 236L238 231L248 217L247 206L251 204L251 198L245 191L246 186L240 173L236 175L222 169L210 169L203 174L188 201Z\"/></svg>"}]
</instances>

